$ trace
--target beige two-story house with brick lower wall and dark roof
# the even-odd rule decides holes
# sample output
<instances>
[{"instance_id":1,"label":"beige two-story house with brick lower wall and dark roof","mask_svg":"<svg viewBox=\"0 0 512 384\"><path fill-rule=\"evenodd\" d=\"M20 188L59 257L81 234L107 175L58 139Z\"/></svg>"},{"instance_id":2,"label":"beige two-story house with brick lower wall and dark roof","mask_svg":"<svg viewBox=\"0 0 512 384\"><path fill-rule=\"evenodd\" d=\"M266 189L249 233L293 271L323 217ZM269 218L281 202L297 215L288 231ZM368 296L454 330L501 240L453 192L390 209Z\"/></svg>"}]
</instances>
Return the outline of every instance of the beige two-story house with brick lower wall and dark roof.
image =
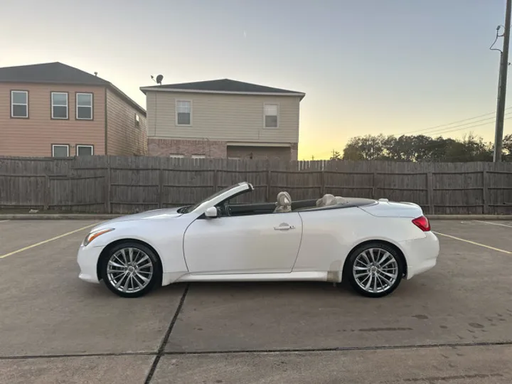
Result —
<instances>
[{"instance_id":1,"label":"beige two-story house with brick lower wall and dark roof","mask_svg":"<svg viewBox=\"0 0 512 384\"><path fill-rule=\"evenodd\" d=\"M140 89L150 156L297 160L302 92L229 79Z\"/></svg>"}]
</instances>

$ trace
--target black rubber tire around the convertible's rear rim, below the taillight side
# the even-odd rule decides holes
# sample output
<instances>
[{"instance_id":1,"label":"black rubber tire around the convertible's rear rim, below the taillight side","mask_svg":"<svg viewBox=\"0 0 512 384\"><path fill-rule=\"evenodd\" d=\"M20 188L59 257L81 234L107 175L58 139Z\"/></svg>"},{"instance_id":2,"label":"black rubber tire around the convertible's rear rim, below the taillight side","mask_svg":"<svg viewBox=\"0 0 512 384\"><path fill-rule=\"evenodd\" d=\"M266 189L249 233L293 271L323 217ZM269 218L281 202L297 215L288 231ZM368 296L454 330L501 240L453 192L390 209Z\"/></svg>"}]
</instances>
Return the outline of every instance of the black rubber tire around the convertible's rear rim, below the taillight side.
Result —
<instances>
[{"instance_id":1,"label":"black rubber tire around the convertible's rear rim, below the taillight side","mask_svg":"<svg viewBox=\"0 0 512 384\"><path fill-rule=\"evenodd\" d=\"M356 276L355 276L354 266L357 262L358 265L356 267L363 268L362 267L363 264L360 263L361 258L358 258L358 257L361 254L363 254L363 252L366 252L366 255L368 257L371 254L370 250L373 250L373 252L374 252L373 255L374 255L374 257L376 256L375 257L376 259L379 259L379 258L383 257L384 255L390 255L389 257L387 257L387 259L385 261L383 261L383 265L386 262L390 261L391 258L393 258L393 260L395 261L395 264L393 264L393 262L391 262L389 264L389 265L393 266L393 270L390 269L391 267L388 267L389 265L385 266L384 268L380 268L382 266L378 267L377 265L375 265L375 272L369 272L369 274L370 274L369 278L374 279L372 282L370 282L372 287L370 287L370 290L367 290L364 287L361 287L361 279L364 279L363 275L366 274L367 272L361 271L361 275L360 275L361 277L359 278L359 283L358 283L358 281L356 280ZM376 253L376 252L378 252L378 250L380 250L380 254ZM386 253L383 254L382 252L387 252L387 254ZM378 255L381 255L381 257L378 257ZM368 259L368 260L370 262L372 262L371 259ZM343 274L344 274L344 279L348 280L348 282L351 284L351 287L358 294L361 294L366 297L385 297L385 296L388 296L388 294L391 294L393 291L395 291L395 289L397 289L398 285L400 285L400 282L402 281L403 270L404 270L404 265L403 265L402 257L400 255L400 253L394 247L390 247L390 245L386 244L385 242L375 241L375 242L368 242L366 244L360 245L359 247L356 247L356 249L354 249L351 252L351 254L348 255L348 260L346 262L346 267L345 267L345 270L343 271ZM393 272L390 273L391 271L393 271ZM386 273L386 274L384 274L384 273ZM390 279L390 277L388 277L388 274L393 274L393 276L395 276L395 274L396 274L396 277L394 280L392 280L392 284L383 284L383 282L384 282L383 277ZM377 276L378 278L375 276ZM366 281L366 284L368 284L368 280L363 280L363 282L365 282L365 281ZM377 290L373 289L373 284L375 283L375 281L377 282L377 285L376 285L376 287L378 288ZM381 289L380 291L379 291L379 288Z\"/></svg>"}]
</instances>

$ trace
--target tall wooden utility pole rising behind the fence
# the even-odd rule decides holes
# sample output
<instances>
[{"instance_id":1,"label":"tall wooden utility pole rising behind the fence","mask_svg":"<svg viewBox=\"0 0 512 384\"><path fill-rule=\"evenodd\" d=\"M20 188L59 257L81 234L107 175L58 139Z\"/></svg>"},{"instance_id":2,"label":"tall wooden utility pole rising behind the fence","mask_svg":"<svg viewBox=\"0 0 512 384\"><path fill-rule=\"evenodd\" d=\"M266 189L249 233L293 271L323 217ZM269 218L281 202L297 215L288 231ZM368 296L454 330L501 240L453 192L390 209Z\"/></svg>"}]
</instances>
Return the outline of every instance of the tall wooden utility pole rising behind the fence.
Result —
<instances>
[{"instance_id":1,"label":"tall wooden utility pole rising behind the fence","mask_svg":"<svg viewBox=\"0 0 512 384\"><path fill-rule=\"evenodd\" d=\"M512 0L506 0L505 31L503 32L503 51L501 52L498 80L498 107L496 108L496 137L494 138L495 163L501 161L501 149L503 147L503 119L505 118L508 45L510 43L511 35L511 9Z\"/></svg>"}]
</instances>

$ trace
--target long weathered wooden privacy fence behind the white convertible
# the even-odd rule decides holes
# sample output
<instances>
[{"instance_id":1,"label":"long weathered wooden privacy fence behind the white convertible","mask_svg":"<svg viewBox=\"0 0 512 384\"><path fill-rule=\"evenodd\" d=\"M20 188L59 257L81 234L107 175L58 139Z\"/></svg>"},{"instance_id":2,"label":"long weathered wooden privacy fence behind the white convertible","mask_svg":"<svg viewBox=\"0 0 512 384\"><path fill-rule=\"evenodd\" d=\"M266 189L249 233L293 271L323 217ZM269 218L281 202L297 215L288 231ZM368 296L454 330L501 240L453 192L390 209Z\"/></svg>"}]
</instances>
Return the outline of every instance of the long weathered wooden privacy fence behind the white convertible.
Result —
<instances>
[{"instance_id":1,"label":"long weathered wooden privacy fence behind the white convertible","mask_svg":"<svg viewBox=\"0 0 512 384\"><path fill-rule=\"evenodd\" d=\"M133 213L201 201L249 181L237 201L337 196L411 201L425 213L512 213L512 164L391 161L235 161L89 156L0 158L0 209Z\"/></svg>"}]
</instances>

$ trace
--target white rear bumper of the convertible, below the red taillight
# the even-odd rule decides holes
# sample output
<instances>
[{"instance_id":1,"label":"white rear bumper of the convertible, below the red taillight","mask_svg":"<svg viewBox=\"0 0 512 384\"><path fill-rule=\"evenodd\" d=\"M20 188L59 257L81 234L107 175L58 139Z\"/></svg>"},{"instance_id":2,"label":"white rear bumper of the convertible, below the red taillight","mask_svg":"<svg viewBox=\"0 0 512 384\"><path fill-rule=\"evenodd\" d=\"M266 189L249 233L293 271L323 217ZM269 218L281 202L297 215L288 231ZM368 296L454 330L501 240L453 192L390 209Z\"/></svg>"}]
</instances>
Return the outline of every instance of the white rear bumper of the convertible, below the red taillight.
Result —
<instances>
[{"instance_id":1,"label":"white rear bumper of the convertible, below the red taillight","mask_svg":"<svg viewBox=\"0 0 512 384\"><path fill-rule=\"evenodd\" d=\"M400 242L407 261L407 279L431 270L437 264L439 240L432 232L425 235L425 238Z\"/></svg>"}]
</instances>

